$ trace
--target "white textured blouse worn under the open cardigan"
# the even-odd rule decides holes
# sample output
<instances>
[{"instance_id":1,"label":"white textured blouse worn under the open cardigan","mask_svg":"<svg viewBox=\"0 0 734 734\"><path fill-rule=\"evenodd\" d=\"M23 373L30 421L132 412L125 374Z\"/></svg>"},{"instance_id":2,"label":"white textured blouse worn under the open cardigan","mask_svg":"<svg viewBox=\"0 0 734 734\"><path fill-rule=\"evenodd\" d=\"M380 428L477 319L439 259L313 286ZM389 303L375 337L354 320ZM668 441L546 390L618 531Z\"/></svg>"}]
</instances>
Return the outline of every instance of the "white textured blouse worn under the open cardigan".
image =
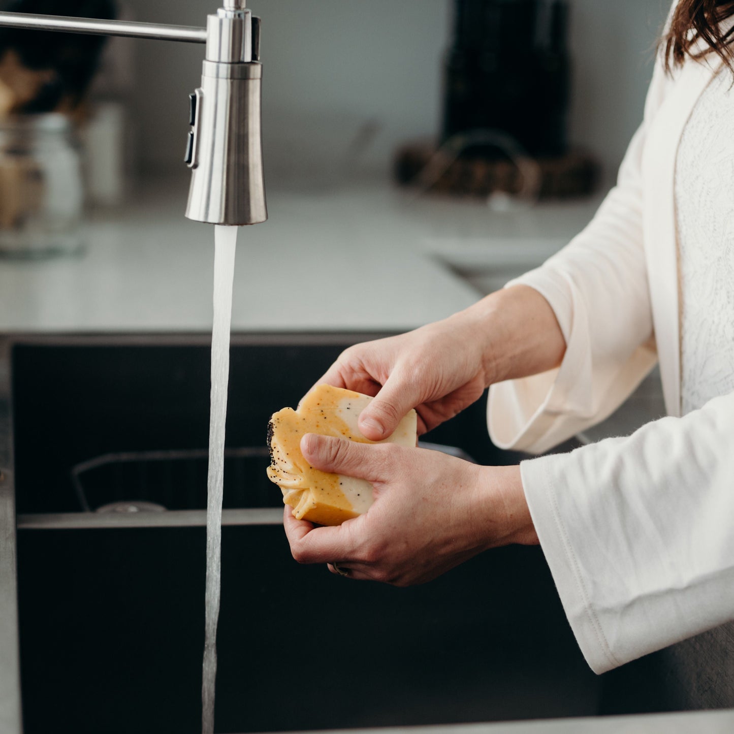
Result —
<instances>
[{"instance_id":1,"label":"white textured blouse worn under the open cardigan","mask_svg":"<svg viewBox=\"0 0 734 734\"><path fill-rule=\"evenodd\" d=\"M711 81L678 148L682 415L734 390L733 84L727 68Z\"/></svg>"}]
</instances>

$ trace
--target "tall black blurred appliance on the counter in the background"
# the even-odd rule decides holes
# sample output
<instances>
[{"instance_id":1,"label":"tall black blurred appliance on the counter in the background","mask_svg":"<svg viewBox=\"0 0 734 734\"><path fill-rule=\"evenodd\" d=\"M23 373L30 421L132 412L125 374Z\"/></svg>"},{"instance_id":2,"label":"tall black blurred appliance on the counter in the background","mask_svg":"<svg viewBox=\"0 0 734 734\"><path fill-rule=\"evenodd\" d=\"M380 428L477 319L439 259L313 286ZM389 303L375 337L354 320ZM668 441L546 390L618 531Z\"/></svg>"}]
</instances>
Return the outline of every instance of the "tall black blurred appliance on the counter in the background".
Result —
<instances>
[{"instance_id":1,"label":"tall black blurred appliance on the counter in the background","mask_svg":"<svg viewBox=\"0 0 734 734\"><path fill-rule=\"evenodd\" d=\"M469 131L501 131L531 156L563 156L570 92L567 0L454 5L441 142ZM490 147L482 155L501 157Z\"/></svg>"}]
</instances>

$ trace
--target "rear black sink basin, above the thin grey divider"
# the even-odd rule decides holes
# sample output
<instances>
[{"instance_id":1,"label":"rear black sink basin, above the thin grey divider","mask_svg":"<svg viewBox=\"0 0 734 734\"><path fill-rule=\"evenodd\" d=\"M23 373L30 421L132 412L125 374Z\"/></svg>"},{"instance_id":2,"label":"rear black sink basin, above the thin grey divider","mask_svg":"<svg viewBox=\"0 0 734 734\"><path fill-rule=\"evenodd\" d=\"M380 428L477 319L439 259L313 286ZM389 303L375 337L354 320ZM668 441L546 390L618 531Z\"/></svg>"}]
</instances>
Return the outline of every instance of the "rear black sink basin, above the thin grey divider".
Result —
<instances>
[{"instance_id":1,"label":"rear black sink basin, above the thin grey divider","mask_svg":"<svg viewBox=\"0 0 734 734\"><path fill-rule=\"evenodd\" d=\"M295 407L355 338L233 338L227 445L235 455L225 470L225 507L282 506L265 476L267 421ZM18 513L80 512L76 483L92 509L125 499L206 507L209 360L205 338L16 344ZM482 462L502 459L487 439L483 401L428 438ZM255 451L241 457L243 447ZM167 454L173 458L159 460ZM75 482L74 468L99 457L109 460Z\"/></svg>"}]
</instances>

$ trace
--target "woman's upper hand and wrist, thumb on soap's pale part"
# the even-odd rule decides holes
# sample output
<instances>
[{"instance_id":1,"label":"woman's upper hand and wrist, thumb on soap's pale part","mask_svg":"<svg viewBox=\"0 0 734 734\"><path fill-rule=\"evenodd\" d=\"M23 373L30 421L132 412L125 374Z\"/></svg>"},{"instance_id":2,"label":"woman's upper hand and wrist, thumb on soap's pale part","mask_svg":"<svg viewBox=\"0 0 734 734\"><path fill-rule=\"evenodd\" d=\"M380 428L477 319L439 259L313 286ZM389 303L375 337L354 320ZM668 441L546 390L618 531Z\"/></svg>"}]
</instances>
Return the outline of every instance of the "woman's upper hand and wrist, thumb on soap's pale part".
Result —
<instances>
[{"instance_id":1,"label":"woman's upper hand and wrist, thumb on soap's pale part","mask_svg":"<svg viewBox=\"0 0 734 734\"><path fill-rule=\"evenodd\" d=\"M493 382L557 366L564 349L548 302L533 288L514 286L449 319L351 346L317 384L376 396L359 419L370 440L390 436L411 408L422 435Z\"/></svg>"}]
</instances>

